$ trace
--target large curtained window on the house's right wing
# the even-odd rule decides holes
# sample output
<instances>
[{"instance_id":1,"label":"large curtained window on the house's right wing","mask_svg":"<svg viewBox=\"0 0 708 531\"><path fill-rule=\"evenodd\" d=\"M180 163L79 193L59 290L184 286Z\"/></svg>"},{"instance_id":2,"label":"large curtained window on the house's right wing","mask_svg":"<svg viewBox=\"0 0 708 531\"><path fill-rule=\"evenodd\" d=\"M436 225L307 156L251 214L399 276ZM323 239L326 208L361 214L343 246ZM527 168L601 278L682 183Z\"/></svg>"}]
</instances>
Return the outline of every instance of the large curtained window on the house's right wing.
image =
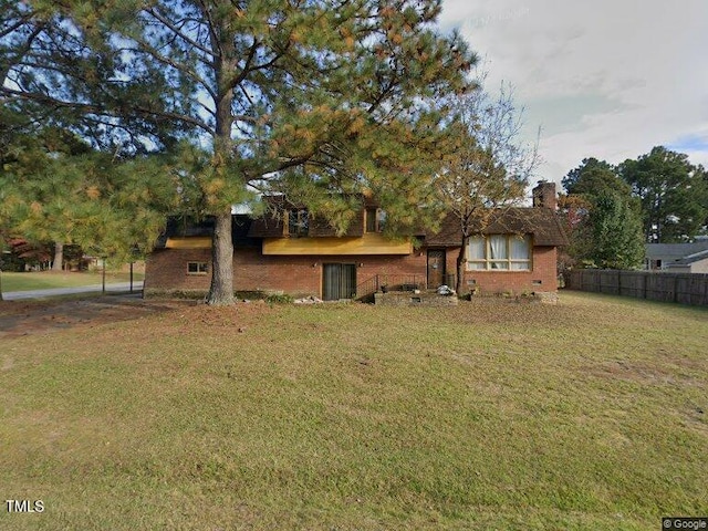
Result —
<instances>
[{"instance_id":1,"label":"large curtained window on the house's right wing","mask_svg":"<svg viewBox=\"0 0 708 531\"><path fill-rule=\"evenodd\" d=\"M467 247L468 271L531 271L531 236L473 236Z\"/></svg>"}]
</instances>

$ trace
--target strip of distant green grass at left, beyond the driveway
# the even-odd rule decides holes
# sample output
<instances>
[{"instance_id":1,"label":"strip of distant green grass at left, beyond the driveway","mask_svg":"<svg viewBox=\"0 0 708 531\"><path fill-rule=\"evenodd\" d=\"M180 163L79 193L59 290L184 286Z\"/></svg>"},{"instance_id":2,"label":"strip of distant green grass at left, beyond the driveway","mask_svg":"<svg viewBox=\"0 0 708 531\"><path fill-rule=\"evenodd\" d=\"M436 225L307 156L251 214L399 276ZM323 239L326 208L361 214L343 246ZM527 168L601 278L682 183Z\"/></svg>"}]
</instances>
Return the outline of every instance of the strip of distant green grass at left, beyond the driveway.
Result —
<instances>
[{"instance_id":1,"label":"strip of distant green grass at left, beyond the driveway","mask_svg":"<svg viewBox=\"0 0 708 531\"><path fill-rule=\"evenodd\" d=\"M133 273L135 282L145 278L143 273ZM129 282L131 273L106 272L106 283ZM101 271L92 272L61 272L39 271L28 273L2 272L2 291L46 290L52 288L76 288L81 285L101 284Z\"/></svg>"}]
</instances>

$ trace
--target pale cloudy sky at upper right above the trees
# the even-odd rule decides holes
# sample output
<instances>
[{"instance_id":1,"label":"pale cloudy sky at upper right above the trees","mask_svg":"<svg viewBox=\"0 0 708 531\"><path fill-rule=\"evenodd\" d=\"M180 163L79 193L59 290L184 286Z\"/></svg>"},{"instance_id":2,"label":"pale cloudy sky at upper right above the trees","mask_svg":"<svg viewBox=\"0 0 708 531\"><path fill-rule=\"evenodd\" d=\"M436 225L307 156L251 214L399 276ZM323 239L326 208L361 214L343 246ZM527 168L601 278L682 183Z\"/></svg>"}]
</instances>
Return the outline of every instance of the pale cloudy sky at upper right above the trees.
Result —
<instances>
[{"instance_id":1,"label":"pale cloudy sky at upper right above the trees","mask_svg":"<svg viewBox=\"0 0 708 531\"><path fill-rule=\"evenodd\" d=\"M708 167L708 0L442 0L440 24L541 128L538 178L659 145Z\"/></svg>"}]
</instances>

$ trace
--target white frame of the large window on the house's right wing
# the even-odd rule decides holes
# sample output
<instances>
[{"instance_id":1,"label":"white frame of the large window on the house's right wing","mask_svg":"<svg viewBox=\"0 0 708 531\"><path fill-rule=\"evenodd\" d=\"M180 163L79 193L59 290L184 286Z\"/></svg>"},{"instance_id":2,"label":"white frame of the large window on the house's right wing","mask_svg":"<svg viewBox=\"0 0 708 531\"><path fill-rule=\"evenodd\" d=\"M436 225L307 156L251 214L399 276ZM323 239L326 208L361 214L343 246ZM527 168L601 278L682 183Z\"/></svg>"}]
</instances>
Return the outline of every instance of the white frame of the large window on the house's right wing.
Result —
<instances>
[{"instance_id":1,"label":"white frame of the large window on the house's right wing","mask_svg":"<svg viewBox=\"0 0 708 531\"><path fill-rule=\"evenodd\" d=\"M503 237L503 248L497 249L501 257L494 258L494 246L498 246L499 238ZM511 258L512 244L517 241L525 241L527 258ZM483 242L483 258L472 257L472 246ZM533 239L531 235L475 235L470 237L465 252L467 258L467 271L494 271L494 272L523 272L533 271ZM525 267L524 267L525 266Z\"/></svg>"}]
</instances>

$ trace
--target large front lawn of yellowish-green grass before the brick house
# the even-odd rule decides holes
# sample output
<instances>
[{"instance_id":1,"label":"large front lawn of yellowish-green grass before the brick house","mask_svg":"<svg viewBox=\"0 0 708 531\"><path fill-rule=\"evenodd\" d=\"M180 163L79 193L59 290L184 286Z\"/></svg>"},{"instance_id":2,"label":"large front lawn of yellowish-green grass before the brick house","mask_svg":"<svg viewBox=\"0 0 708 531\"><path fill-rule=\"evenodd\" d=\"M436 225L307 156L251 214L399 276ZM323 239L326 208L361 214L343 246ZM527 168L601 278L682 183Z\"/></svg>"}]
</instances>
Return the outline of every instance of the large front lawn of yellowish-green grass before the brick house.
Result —
<instances>
[{"instance_id":1,"label":"large front lawn of yellowish-green grass before the brick house","mask_svg":"<svg viewBox=\"0 0 708 531\"><path fill-rule=\"evenodd\" d=\"M6 340L0 529L646 530L708 508L708 312L241 304Z\"/></svg>"}]
</instances>

